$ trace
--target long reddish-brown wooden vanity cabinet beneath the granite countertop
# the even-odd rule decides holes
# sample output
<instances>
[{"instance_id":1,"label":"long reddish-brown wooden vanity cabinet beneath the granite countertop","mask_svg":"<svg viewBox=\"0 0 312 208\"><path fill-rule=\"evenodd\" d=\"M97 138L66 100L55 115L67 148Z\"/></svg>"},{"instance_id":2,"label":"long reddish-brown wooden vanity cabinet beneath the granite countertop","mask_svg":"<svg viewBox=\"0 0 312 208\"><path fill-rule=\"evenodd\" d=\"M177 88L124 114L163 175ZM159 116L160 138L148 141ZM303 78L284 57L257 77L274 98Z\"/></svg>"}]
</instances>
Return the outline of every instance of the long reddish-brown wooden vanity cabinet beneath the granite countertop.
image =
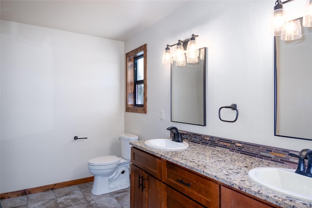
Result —
<instances>
[{"instance_id":1,"label":"long reddish-brown wooden vanity cabinet beneath the granite countertop","mask_svg":"<svg viewBox=\"0 0 312 208\"><path fill-rule=\"evenodd\" d=\"M279 208L136 148L131 163L131 208Z\"/></svg>"}]
</instances>

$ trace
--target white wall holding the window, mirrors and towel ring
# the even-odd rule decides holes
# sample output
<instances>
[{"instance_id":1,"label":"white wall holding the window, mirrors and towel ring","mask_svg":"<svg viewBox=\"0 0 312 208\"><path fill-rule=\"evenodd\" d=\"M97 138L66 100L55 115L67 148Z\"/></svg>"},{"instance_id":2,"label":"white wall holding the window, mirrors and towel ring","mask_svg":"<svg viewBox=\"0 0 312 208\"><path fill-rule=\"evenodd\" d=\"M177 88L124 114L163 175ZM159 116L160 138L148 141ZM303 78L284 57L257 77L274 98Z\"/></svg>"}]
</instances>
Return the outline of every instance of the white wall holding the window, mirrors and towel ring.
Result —
<instances>
[{"instance_id":1,"label":"white wall holding the window, mirrors and towel ring","mask_svg":"<svg viewBox=\"0 0 312 208\"><path fill-rule=\"evenodd\" d=\"M274 136L274 54L269 22L273 0L192 1L125 42L125 52L147 43L147 114L125 113L125 131L140 139L168 137L166 128L299 151L312 142ZM170 66L161 64L167 44L199 35L208 47L207 126L170 121ZM237 104L235 123L218 118ZM165 120L160 120L160 111Z\"/></svg>"}]
</instances>

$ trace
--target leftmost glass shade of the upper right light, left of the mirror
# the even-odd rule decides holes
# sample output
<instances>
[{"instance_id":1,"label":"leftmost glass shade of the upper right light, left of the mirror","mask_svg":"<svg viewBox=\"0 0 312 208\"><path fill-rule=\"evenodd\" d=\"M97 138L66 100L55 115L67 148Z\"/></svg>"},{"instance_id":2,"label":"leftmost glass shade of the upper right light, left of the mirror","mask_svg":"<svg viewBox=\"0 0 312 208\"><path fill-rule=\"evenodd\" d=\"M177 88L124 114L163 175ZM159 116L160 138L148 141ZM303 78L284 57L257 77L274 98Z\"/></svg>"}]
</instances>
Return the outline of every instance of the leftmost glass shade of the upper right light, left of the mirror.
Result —
<instances>
[{"instance_id":1,"label":"leftmost glass shade of the upper right light, left of the mirror","mask_svg":"<svg viewBox=\"0 0 312 208\"><path fill-rule=\"evenodd\" d=\"M280 36L282 27L286 22L285 10L283 9L283 6L280 7L281 8L275 9L272 13L270 22L270 36Z\"/></svg>"}]
</instances>

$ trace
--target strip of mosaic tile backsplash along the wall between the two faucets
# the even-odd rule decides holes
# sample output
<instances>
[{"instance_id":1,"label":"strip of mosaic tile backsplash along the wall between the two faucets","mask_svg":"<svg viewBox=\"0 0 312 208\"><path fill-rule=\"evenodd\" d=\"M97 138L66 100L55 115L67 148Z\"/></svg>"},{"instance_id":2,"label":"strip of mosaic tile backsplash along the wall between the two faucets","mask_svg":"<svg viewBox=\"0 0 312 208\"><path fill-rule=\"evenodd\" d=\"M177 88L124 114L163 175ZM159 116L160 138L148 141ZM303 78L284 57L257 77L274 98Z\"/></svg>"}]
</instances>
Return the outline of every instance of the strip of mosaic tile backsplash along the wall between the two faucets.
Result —
<instances>
[{"instance_id":1,"label":"strip of mosaic tile backsplash along the wall between the two faucets","mask_svg":"<svg viewBox=\"0 0 312 208\"><path fill-rule=\"evenodd\" d=\"M298 154L298 151L285 150L264 145L258 145L248 142L241 142L231 139L219 138L215 136L197 134L193 132L185 132L179 130L183 139L189 142L215 147L223 148L239 154L269 160L276 163L285 164L292 167L297 167L298 159L289 156L289 153Z\"/></svg>"}]
</instances>

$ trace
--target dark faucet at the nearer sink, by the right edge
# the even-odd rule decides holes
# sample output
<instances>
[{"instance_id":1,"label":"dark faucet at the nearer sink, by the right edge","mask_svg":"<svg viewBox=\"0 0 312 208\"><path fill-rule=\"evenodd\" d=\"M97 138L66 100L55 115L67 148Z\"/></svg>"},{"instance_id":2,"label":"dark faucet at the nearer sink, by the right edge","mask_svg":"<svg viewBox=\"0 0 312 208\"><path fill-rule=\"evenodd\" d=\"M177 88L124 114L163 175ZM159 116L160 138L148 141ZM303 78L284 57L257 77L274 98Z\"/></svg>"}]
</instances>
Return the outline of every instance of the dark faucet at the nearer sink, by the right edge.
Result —
<instances>
[{"instance_id":1,"label":"dark faucet at the nearer sink, by the right edge","mask_svg":"<svg viewBox=\"0 0 312 208\"><path fill-rule=\"evenodd\" d=\"M312 177L312 150L303 149L299 154L289 153L290 156L298 157L298 167L295 173ZM308 159L308 165L306 168L305 159Z\"/></svg>"}]
</instances>

